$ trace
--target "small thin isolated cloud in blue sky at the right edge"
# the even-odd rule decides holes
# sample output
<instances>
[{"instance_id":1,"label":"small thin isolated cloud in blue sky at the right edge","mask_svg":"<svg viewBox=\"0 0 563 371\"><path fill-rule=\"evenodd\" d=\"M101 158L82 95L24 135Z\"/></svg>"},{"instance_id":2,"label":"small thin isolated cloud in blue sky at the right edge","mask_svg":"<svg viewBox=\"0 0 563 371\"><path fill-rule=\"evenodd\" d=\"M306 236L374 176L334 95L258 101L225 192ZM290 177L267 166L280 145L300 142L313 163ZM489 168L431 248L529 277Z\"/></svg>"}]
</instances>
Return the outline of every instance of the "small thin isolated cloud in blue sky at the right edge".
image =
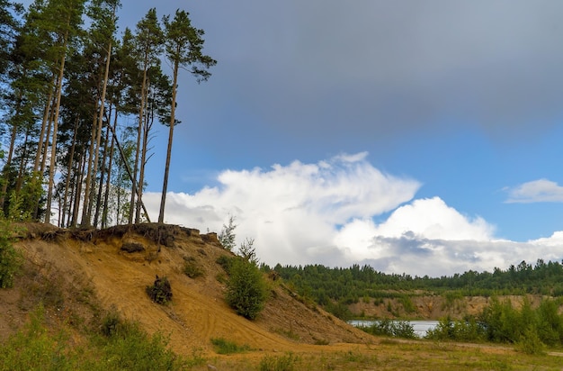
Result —
<instances>
[{"instance_id":1,"label":"small thin isolated cloud in blue sky at the right edge","mask_svg":"<svg viewBox=\"0 0 563 371\"><path fill-rule=\"evenodd\" d=\"M548 179L538 179L514 187L505 188L508 192L506 203L561 203L563 202L563 186Z\"/></svg>"}]
</instances>

